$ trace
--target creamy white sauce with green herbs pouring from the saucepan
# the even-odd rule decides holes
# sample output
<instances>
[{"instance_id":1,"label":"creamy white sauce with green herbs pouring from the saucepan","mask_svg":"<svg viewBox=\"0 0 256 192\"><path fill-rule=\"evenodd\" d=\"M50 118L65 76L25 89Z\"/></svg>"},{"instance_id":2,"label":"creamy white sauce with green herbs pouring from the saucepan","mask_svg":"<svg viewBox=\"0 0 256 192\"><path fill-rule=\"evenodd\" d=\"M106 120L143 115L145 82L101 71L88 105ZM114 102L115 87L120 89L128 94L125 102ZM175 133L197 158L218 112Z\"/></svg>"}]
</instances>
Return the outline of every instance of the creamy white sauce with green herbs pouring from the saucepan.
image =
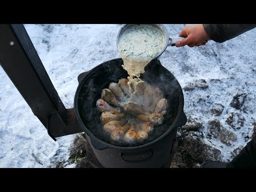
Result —
<instances>
[{"instance_id":1,"label":"creamy white sauce with green herbs pouring from the saucepan","mask_svg":"<svg viewBox=\"0 0 256 192\"><path fill-rule=\"evenodd\" d=\"M165 36L159 29L150 25L134 25L124 31L119 39L118 51L124 61L122 66L129 74L128 85L134 77L145 72L145 66L153 60L165 45ZM138 84L142 81L135 82ZM134 90L136 93L136 90Z\"/></svg>"}]
</instances>

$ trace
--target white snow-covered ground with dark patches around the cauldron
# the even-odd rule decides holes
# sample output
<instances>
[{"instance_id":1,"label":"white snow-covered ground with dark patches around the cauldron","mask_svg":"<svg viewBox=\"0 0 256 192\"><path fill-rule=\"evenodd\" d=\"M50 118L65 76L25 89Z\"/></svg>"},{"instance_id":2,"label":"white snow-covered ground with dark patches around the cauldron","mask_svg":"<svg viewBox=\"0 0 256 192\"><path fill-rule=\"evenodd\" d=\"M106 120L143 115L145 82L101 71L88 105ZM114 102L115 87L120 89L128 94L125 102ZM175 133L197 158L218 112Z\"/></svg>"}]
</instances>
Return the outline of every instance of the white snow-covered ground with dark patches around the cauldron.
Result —
<instances>
[{"instance_id":1,"label":"white snow-covered ground with dark patches around the cauldron","mask_svg":"<svg viewBox=\"0 0 256 192\"><path fill-rule=\"evenodd\" d=\"M185 25L166 25L177 36ZM25 25L44 67L66 108L72 108L77 76L102 62L119 58L116 35L121 25ZM250 140L255 120L256 29L225 43L201 47L167 47L160 61L182 89L204 79L204 89L183 89L185 114L202 123L193 137L202 138L230 161ZM1 54L1 53L0 53ZM55 167L66 162L74 135L54 142L0 67L0 167ZM242 94L244 103L230 103ZM244 96L246 94L246 97ZM221 106L217 116L213 109ZM223 107L222 107L223 106ZM211 110L212 109L212 110ZM227 121L227 119L231 119ZM210 137L209 124L218 121L235 139ZM256 124L255 124L256 126ZM231 138L232 139L232 138ZM64 165L74 167L75 164Z\"/></svg>"}]
</instances>

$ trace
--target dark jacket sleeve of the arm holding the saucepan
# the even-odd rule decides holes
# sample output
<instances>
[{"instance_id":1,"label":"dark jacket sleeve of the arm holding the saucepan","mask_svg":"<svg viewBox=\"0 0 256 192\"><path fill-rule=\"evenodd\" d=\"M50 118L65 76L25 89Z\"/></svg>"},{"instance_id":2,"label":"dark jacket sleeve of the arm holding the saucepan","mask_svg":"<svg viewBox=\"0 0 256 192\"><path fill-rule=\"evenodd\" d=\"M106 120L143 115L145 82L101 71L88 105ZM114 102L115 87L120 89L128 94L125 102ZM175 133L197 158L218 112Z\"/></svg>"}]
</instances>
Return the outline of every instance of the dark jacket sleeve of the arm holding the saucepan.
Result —
<instances>
[{"instance_id":1,"label":"dark jacket sleeve of the arm holding the saucepan","mask_svg":"<svg viewBox=\"0 0 256 192\"><path fill-rule=\"evenodd\" d=\"M203 24L204 30L215 42L225 42L256 27L256 24Z\"/></svg>"}]
</instances>

